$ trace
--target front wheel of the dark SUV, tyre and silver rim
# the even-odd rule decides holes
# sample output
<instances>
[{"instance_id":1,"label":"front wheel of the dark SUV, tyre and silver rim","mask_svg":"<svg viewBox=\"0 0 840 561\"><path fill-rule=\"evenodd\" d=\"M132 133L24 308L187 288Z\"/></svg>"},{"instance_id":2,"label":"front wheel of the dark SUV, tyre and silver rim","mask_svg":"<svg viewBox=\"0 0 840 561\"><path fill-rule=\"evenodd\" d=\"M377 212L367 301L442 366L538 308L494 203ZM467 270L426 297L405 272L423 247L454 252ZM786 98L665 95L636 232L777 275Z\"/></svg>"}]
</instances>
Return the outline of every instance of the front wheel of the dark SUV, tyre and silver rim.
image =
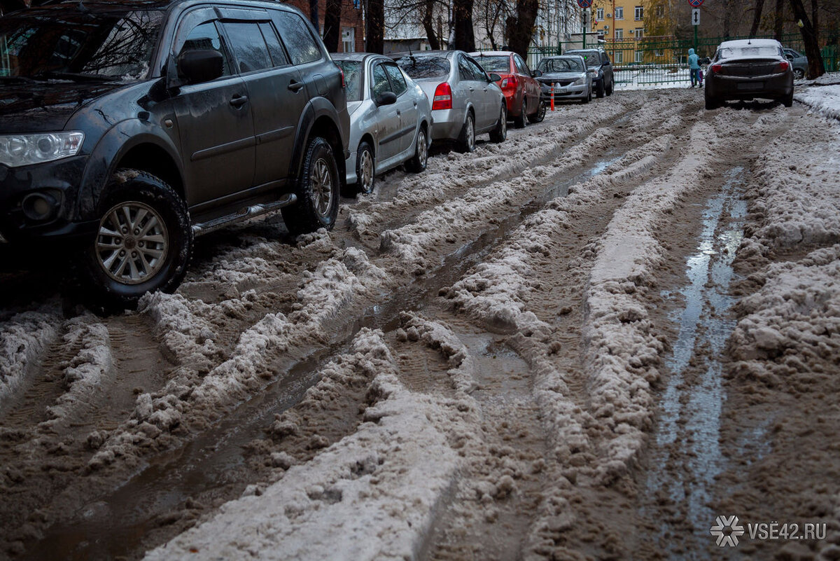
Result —
<instances>
[{"instance_id":1,"label":"front wheel of the dark SUV, tyre and silver rim","mask_svg":"<svg viewBox=\"0 0 840 561\"><path fill-rule=\"evenodd\" d=\"M118 170L108 184L83 278L102 310L134 308L147 291L171 292L192 256L186 203L149 173Z\"/></svg>"}]
</instances>

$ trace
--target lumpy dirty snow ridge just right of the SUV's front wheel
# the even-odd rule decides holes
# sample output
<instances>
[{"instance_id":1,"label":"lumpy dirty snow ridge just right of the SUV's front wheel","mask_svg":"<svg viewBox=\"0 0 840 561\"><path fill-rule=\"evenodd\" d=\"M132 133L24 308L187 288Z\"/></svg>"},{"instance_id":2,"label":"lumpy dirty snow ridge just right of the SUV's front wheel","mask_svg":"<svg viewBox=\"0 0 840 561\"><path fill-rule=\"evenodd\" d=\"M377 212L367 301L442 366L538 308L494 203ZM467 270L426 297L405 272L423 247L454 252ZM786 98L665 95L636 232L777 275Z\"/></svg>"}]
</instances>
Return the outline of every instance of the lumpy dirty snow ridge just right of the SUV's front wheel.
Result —
<instances>
[{"instance_id":1,"label":"lumpy dirty snow ridge just right of the SUV's front wheel","mask_svg":"<svg viewBox=\"0 0 840 561\"><path fill-rule=\"evenodd\" d=\"M219 407L247 399L274 377L273 361L291 349L298 352L325 343L324 323L388 278L360 249L338 250L335 257L302 274L291 312L269 312L244 328L226 357L214 339L230 315L237 317L253 306L259 298L254 291L218 305L178 294L144 297L141 310L155 319L157 336L179 366L160 391L137 397L132 418L110 435L91 467L111 464L118 457L134 462L139 445L148 446L190 422L201 425L215 417Z\"/></svg>"}]
</instances>

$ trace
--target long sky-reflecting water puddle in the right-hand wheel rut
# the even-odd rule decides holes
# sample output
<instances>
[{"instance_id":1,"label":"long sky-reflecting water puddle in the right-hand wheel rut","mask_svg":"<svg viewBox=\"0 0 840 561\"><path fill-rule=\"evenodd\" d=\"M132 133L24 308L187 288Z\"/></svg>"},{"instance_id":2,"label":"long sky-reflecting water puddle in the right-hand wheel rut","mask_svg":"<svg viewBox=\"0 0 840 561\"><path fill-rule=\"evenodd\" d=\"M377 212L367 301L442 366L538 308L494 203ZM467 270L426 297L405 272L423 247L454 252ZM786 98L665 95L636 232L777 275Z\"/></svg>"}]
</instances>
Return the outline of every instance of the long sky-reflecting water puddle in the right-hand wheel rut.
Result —
<instances>
[{"instance_id":1,"label":"long sky-reflecting water puddle in the right-hand wheel rut","mask_svg":"<svg viewBox=\"0 0 840 561\"><path fill-rule=\"evenodd\" d=\"M663 522L662 537L668 538L663 542L671 546L664 553L674 560L708 558L701 552L711 543L708 529L716 516L706 504L724 467L720 357L735 328L730 308L736 299L729 296L729 286L747 210L737 188L744 173L741 167L730 170L721 192L706 202L700 242L686 263L688 284L679 291L684 307L672 317L680 329L666 359L671 376L660 402L648 495L667 496L694 528L693 536L675 540L685 532Z\"/></svg>"}]
</instances>

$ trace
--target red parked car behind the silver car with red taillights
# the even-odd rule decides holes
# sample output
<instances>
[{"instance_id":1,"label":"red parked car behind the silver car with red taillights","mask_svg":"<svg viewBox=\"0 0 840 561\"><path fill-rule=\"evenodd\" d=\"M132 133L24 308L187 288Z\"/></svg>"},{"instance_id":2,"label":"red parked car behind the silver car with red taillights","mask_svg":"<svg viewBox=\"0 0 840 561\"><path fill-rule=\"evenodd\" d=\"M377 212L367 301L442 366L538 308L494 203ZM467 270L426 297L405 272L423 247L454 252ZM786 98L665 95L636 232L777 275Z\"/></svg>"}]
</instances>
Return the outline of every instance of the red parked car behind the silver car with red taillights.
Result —
<instances>
[{"instance_id":1,"label":"red parked car behind the silver car with red taillights","mask_svg":"<svg viewBox=\"0 0 840 561\"><path fill-rule=\"evenodd\" d=\"M539 84L531 76L531 69L522 57L509 50L470 53L488 73L501 76L496 85L505 94L507 117L518 128L531 121L539 123L545 118L545 107L540 106Z\"/></svg>"}]
</instances>

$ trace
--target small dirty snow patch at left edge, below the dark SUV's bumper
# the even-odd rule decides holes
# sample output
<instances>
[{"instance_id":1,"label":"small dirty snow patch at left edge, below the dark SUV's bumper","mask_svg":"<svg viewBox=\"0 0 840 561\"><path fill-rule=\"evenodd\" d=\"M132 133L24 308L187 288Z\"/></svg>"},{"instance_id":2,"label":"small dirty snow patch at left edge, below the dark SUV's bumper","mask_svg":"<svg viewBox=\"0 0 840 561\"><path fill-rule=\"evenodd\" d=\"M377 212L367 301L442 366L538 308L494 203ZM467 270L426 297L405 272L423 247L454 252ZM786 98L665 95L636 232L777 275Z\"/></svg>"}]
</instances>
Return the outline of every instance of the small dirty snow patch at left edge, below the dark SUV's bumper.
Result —
<instances>
[{"instance_id":1,"label":"small dirty snow patch at left edge, below the dark SUV's bumper","mask_svg":"<svg viewBox=\"0 0 840 561\"><path fill-rule=\"evenodd\" d=\"M0 404L13 396L26 376L33 374L60 327L60 314L52 307L22 312L0 328Z\"/></svg>"}]
</instances>

